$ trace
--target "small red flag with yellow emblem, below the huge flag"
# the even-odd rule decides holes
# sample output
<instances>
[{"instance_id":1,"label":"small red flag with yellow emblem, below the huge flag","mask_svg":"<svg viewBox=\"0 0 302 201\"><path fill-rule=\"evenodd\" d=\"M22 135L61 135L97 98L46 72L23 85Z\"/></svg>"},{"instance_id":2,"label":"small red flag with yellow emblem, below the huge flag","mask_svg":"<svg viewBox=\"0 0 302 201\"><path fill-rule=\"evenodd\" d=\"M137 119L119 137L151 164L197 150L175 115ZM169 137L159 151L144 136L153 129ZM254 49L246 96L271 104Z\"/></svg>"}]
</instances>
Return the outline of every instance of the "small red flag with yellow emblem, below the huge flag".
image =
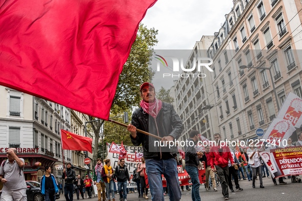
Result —
<instances>
[{"instance_id":1,"label":"small red flag with yellow emblem, below the huge flag","mask_svg":"<svg viewBox=\"0 0 302 201\"><path fill-rule=\"evenodd\" d=\"M61 129L62 149L83 150L92 153L92 139Z\"/></svg>"}]
</instances>

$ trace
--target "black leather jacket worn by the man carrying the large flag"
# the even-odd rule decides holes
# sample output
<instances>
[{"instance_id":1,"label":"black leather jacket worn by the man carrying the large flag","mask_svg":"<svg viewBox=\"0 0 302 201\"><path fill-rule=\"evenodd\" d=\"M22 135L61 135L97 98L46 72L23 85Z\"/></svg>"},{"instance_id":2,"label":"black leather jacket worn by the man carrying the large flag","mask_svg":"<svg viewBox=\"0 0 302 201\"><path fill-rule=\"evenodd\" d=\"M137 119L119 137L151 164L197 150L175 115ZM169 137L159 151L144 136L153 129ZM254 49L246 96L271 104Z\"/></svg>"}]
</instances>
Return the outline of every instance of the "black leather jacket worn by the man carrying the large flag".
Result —
<instances>
[{"instance_id":1,"label":"black leather jacket worn by the man carrying the large flag","mask_svg":"<svg viewBox=\"0 0 302 201\"><path fill-rule=\"evenodd\" d=\"M183 130L183 124L181 122L180 117L175 112L173 106L168 103L162 102L161 110L159 111L156 119L154 119L151 115L144 112L142 108L138 108L132 114L131 124L134 125L137 129L146 131L153 135L157 135L159 137L172 136L175 140L177 140ZM159 158L160 152L166 152L172 154L178 152L177 147L160 147L154 145L155 139L153 137L149 137L148 135L137 132L136 138L134 139L131 135L131 142L135 146L143 145L144 157L145 159L150 158Z\"/></svg>"}]
</instances>

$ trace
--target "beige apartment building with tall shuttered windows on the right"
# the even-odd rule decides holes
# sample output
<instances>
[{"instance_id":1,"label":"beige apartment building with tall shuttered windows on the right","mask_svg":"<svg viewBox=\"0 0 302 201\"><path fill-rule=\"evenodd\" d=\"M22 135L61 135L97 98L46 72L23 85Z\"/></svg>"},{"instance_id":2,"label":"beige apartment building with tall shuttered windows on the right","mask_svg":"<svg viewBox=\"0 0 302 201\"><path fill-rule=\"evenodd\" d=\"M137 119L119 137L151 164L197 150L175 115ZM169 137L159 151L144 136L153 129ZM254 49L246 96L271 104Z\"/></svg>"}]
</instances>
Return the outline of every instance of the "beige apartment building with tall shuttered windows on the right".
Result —
<instances>
[{"instance_id":1,"label":"beige apartment building with tall shuttered windows on the right","mask_svg":"<svg viewBox=\"0 0 302 201\"><path fill-rule=\"evenodd\" d=\"M210 110L212 119L209 121L217 123L222 138L246 140L257 138L257 128L268 128L290 91L302 97L299 61L302 5L299 0L233 3L234 7L225 15L225 21L207 49L207 57L213 59L214 72L209 74L211 84L200 89L200 93L208 96L204 98L216 108L216 114ZM178 83L190 81L183 79ZM181 102L181 96L188 94L178 94L176 102ZM201 113L195 109L198 108L196 102L188 106L187 110L180 110L182 117ZM188 127L193 119L185 121ZM210 138L201 128L198 127L202 135ZM197 127L187 128L185 132L189 133L190 129Z\"/></svg>"}]
</instances>

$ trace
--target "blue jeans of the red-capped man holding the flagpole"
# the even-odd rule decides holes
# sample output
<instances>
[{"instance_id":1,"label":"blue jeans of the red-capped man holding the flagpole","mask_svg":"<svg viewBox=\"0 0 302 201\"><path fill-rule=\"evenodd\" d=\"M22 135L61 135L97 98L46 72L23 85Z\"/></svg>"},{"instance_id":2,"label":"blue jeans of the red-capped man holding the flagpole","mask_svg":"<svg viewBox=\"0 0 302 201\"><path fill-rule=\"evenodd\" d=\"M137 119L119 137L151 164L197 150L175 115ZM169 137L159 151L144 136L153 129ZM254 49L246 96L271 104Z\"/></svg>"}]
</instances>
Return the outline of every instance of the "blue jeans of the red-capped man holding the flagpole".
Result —
<instances>
[{"instance_id":1,"label":"blue jeans of the red-capped man holding the flagpole","mask_svg":"<svg viewBox=\"0 0 302 201\"><path fill-rule=\"evenodd\" d=\"M165 200L161 174L164 174L167 180L170 201L180 200L181 191L179 188L177 163L174 158L167 160L146 159L146 171L152 200Z\"/></svg>"}]
</instances>

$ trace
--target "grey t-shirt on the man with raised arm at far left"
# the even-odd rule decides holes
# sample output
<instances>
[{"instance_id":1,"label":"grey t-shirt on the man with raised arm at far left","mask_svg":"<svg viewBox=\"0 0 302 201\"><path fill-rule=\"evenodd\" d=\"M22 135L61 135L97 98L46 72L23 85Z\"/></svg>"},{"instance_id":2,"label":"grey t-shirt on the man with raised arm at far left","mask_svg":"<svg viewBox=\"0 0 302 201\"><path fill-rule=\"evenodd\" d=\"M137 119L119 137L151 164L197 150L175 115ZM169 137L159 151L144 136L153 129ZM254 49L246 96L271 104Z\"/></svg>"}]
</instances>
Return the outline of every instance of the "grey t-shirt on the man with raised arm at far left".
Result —
<instances>
[{"instance_id":1,"label":"grey t-shirt on the man with raised arm at far left","mask_svg":"<svg viewBox=\"0 0 302 201\"><path fill-rule=\"evenodd\" d=\"M24 159L20 158L23 162ZM23 170L19 167L19 165L14 161L13 163L9 163L8 160L5 161L6 164L0 167L0 175L8 180L5 184L3 184L3 191L13 191L19 190L26 187L26 182L24 178Z\"/></svg>"}]
</instances>

